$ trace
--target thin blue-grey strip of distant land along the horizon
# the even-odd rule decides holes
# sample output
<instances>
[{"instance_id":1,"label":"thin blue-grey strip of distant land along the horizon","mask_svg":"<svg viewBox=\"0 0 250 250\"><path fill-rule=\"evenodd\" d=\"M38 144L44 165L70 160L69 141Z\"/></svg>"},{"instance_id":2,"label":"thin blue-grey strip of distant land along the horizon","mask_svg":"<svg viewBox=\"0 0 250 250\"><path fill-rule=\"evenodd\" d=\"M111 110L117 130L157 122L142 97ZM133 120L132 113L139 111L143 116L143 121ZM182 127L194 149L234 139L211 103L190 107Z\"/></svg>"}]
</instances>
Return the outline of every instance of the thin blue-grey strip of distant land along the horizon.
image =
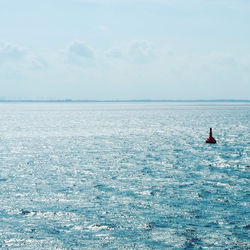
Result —
<instances>
[{"instance_id":1,"label":"thin blue-grey strip of distant land along the horizon","mask_svg":"<svg viewBox=\"0 0 250 250\"><path fill-rule=\"evenodd\" d=\"M250 99L212 99L212 100L150 100L150 99L131 99L131 100L75 100L75 99L58 99L58 100L38 100L38 99L0 99L0 102L250 102Z\"/></svg>"}]
</instances>

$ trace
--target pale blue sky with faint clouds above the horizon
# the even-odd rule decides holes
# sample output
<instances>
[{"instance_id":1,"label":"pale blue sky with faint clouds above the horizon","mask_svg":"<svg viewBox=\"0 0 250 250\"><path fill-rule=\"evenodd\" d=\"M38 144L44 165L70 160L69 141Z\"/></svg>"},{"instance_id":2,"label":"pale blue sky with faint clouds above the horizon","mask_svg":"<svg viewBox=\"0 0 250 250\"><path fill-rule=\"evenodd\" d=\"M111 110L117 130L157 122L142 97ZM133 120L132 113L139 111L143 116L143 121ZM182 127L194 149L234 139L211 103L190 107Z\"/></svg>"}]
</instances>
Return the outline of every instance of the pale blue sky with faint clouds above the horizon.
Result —
<instances>
[{"instance_id":1,"label":"pale blue sky with faint clouds above the horizon","mask_svg":"<svg viewBox=\"0 0 250 250\"><path fill-rule=\"evenodd\" d=\"M250 0L0 0L0 99L250 99Z\"/></svg>"}]
</instances>

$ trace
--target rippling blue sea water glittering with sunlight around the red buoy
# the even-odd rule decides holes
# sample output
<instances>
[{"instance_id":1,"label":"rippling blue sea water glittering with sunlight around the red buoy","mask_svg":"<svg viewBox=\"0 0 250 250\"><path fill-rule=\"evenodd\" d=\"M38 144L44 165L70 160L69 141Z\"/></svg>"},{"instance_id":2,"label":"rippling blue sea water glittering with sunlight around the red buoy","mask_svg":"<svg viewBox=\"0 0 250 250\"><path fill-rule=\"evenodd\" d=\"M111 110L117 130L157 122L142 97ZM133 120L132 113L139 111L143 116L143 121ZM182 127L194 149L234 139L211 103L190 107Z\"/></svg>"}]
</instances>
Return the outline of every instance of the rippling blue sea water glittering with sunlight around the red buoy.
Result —
<instances>
[{"instance_id":1,"label":"rippling blue sea water glittering with sunlight around the red buoy","mask_svg":"<svg viewBox=\"0 0 250 250\"><path fill-rule=\"evenodd\" d=\"M0 247L249 249L249 118L244 103L1 103Z\"/></svg>"}]
</instances>

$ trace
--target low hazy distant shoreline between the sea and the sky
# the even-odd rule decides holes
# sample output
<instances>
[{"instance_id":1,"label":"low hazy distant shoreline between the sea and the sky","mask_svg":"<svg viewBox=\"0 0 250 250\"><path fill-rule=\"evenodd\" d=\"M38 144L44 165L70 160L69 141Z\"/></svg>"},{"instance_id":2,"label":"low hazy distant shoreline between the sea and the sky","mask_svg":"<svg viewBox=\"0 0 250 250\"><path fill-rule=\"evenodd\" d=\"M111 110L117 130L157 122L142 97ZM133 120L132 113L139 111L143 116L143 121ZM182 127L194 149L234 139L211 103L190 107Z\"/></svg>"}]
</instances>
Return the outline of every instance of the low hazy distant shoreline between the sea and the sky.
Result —
<instances>
[{"instance_id":1,"label":"low hazy distant shoreline between the sea and the sky","mask_svg":"<svg viewBox=\"0 0 250 250\"><path fill-rule=\"evenodd\" d=\"M100 103L100 102L105 102L105 103L119 103L119 102L204 102L204 103L250 103L250 100L245 100L245 99L215 99L215 100L147 100L147 99L142 99L142 100L73 100L73 99L62 99L62 100L0 100L0 103L6 103L6 102L53 102L53 103L77 103L77 102L85 102L85 103Z\"/></svg>"}]
</instances>

